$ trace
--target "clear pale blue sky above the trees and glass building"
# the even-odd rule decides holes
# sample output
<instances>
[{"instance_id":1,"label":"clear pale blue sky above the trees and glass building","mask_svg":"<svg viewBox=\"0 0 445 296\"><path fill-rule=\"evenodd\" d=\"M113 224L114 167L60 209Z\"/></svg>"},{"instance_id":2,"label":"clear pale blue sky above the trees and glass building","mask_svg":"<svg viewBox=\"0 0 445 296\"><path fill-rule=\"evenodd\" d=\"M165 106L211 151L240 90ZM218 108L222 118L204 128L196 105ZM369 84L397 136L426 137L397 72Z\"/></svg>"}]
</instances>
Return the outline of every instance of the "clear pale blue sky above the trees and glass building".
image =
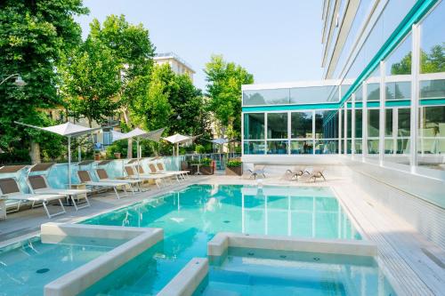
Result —
<instances>
[{"instance_id":1,"label":"clear pale blue sky above the trees and glass building","mask_svg":"<svg viewBox=\"0 0 445 296\"><path fill-rule=\"evenodd\" d=\"M90 9L77 17L83 36L95 18L125 14L150 31L158 53L175 52L203 72L212 54L223 54L252 73L255 83L319 80L321 0L84 0Z\"/></svg>"}]
</instances>

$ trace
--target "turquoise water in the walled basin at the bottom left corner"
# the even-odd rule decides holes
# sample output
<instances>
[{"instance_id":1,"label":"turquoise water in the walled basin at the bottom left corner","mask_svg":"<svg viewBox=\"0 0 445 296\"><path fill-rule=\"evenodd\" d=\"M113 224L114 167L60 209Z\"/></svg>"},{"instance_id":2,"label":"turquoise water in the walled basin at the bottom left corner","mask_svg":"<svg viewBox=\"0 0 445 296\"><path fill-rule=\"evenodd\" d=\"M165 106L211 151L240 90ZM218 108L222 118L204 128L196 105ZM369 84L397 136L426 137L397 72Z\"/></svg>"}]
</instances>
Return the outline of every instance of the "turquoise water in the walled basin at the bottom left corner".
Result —
<instances>
[{"instance_id":1,"label":"turquoise water in the walled basin at the bottom left corner","mask_svg":"<svg viewBox=\"0 0 445 296\"><path fill-rule=\"evenodd\" d=\"M43 295L44 285L109 252L120 240L33 236L0 248L0 295Z\"/></svg>"}]
</instances>

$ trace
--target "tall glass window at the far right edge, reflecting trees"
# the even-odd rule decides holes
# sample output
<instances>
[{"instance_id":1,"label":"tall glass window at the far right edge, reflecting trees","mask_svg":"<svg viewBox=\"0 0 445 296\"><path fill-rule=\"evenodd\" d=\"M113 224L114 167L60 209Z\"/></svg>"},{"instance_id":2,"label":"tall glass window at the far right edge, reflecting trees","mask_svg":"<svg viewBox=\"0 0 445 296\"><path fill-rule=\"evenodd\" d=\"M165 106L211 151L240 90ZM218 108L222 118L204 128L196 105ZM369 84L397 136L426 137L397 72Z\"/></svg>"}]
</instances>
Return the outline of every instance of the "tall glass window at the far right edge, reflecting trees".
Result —
<instances>
[{"instance_id":1,"label":"tall glass window at the far right edge, reflecting trees","mask_svg":"<svg viewBox=\"0 0 445 296\"><path fill-rule=\"evenodd\" d=\"M445 104L441 102L445 98L445 35L441 29L444 15L445 1L442 1L419 26L421 81L417 161L418 165L441 171L445 171ZM434 106L428 106L434 100Z\"/></svg>"}]
</instances>

